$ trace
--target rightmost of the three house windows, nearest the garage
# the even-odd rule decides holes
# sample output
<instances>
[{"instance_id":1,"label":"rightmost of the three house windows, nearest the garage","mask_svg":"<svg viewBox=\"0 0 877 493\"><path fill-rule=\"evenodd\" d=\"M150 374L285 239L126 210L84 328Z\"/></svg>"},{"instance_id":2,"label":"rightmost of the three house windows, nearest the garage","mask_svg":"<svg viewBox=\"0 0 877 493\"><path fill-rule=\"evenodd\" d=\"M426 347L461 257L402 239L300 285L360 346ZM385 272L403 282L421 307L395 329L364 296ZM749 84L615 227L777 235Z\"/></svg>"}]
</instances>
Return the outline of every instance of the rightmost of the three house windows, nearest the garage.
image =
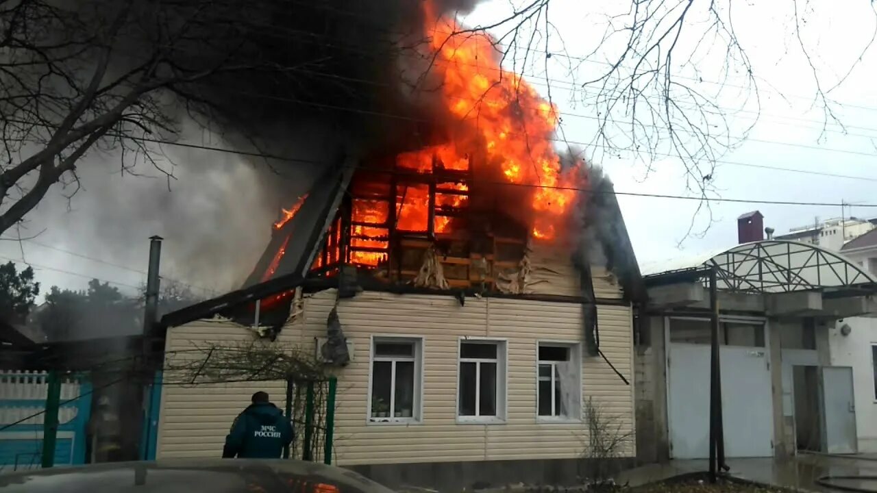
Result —
<instances>
[{"instance_id":1,"label":"rightmost of the three house windows, nearest the garage","mask_svg":"<svg viewBox=\"0 0 877 493\"><path fill-rule=\"evenodd\" d=\"M536 402L540 419L578 419L581 363L576 345L540 342Z\"/></svg>"}]
</instances>

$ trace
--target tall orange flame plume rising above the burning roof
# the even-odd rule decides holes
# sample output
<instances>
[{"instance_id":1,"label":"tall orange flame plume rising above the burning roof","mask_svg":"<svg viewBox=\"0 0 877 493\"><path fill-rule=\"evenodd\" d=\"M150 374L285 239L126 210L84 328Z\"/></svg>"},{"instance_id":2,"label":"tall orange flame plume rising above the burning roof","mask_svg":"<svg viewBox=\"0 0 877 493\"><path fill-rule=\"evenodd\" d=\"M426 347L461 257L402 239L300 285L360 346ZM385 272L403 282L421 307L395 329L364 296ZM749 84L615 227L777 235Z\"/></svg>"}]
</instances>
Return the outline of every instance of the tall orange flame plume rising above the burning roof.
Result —
<instances>
[{"instance_id":1,"label":"tall orange flame plume rising above the burning roof","mask_svg":"<svg viewBox=\"0 0 877 493\"><path fill-rule=\"evenodd\" d=\"M426 19L436 18L431 2L424 9ZM433 68L443 82L443 104L468 124L469 138L442 146L441 159L458 162L480 147L488 163L500 163L506 182L531 186L532 236L553 239L553 225L567 215L576 192L574 175L561 171L553 147L557 110L519 75L503 70L488 34L453 35L460 30L453 18L427 25L440 61Z\"/></svg>"}]
</instances>

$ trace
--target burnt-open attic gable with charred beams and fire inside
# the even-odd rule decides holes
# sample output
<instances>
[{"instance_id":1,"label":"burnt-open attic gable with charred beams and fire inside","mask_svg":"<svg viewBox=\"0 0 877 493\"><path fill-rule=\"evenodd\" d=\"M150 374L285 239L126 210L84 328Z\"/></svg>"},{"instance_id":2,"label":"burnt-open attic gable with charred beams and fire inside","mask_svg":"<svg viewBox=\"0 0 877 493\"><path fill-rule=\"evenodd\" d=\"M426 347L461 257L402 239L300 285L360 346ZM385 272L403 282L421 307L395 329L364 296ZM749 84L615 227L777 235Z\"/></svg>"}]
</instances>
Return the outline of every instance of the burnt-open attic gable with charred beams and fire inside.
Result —
<instances>
[{"instance_id":1,"label":"burnt-open attic gable with charred beams and fire inside","mask_svg":"<svg viewBox=\"0 0 877 493\"><path fill-rule=\"evenodd\" d=\"M358 278L389 284L515 292L509 279L539 233L531 232L524 211L515 211L523 207L508 185L475 180L473 168L469 159L445 162L423 153L360 167L308 276L331 278L351 266ZM268 277L279 261L269 264Z\"/></svg>"}]
</instances>

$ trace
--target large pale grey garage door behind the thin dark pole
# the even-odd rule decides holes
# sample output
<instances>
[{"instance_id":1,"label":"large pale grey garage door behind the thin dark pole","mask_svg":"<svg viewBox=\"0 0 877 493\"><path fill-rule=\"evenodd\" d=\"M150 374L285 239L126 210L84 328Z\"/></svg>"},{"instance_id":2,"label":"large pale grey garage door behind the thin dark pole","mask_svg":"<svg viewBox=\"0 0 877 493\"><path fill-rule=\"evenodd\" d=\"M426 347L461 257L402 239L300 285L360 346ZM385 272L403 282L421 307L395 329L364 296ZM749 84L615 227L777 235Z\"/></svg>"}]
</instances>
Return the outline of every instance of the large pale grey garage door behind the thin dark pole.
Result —
<instances>
[{"instance_id":1,"label":"large pale grey garage door behind the thin dark pole","mask_svg":"<svg viewBox=\"0 0 877 493\"><path fill-rule=\"evenodd\" d=\"M726 457L774 455L764 326L723 322L720 339ZM709 320L671 319L667 400L675 459L709 457Z\"/></svg>"}]
</instances>

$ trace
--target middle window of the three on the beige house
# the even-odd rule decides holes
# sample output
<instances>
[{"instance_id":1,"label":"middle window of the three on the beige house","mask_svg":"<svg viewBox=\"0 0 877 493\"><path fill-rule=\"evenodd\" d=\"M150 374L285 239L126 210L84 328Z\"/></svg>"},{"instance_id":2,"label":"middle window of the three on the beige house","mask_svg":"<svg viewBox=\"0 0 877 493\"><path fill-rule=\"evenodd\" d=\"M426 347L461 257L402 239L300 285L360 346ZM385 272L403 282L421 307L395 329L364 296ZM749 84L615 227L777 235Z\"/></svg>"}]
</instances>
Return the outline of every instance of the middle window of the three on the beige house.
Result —
<instances>
[{"instance_id":1,"label":"middle window of the three on the beige house","mask_svg":"<svg viewBox=\"0 0 877 493\"><path fill-rule=\"evenodd\" d=\"M505 407L505 343L460 340L457 414L462 421L503 418Z\"/></svg>"}]
</instances>

